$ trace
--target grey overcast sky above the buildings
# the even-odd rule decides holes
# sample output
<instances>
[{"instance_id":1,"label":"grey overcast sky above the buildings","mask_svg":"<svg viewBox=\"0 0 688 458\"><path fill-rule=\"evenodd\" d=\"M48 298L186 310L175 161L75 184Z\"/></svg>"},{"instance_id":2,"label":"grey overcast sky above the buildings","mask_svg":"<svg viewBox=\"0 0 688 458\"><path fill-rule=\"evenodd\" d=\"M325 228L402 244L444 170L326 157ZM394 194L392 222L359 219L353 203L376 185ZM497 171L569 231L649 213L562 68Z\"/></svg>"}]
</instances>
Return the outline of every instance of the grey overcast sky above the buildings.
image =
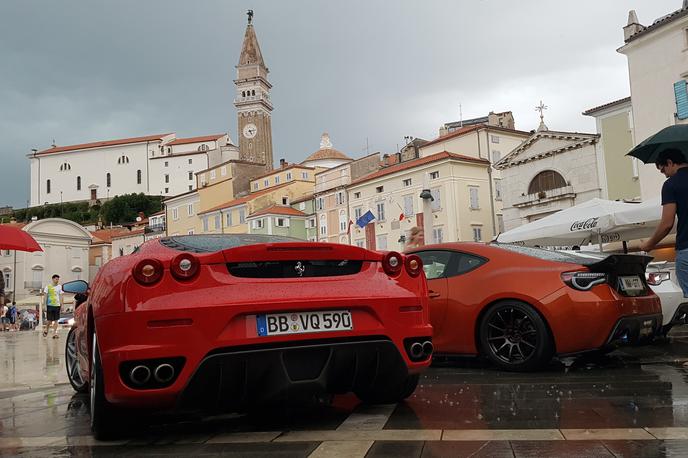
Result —
<instances>
[{"instance_id":1,"label":"grey overcast sky above the buildings","mask_svg":"<svg viewBox=\"0 0 688 458\"><path fill-rule=\"evenodd\" d=\"M82 0L0 2L0 206L26 206L26 153L163 132L229 131L247 9L273 84L275 162L330 133L352 157L489 111L594 132L629 95L622 27L680 0Z\"/></svg>"}]
</instances>

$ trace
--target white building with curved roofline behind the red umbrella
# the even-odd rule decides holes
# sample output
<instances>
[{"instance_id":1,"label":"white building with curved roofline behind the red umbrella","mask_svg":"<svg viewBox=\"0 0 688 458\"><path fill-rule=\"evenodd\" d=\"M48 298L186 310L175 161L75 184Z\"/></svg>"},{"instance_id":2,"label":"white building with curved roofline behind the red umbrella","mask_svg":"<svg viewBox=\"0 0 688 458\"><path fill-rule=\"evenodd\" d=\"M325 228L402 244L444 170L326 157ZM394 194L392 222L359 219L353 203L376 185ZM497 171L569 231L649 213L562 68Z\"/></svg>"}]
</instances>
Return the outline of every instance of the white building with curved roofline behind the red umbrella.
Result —
<instances>
[{"instance_id":1,"label":"white building with curved roofline behind the red umbrella","mask_svg":"<svg viewBox=\"0 0 688 458\"><path fill-rule=\"evenodd\" d=\"M14 251L1 252L0 271L5 276L5 290L13 291L16 284L17 301L38 294L53 274L60 276L60 283L89 279L91 234L84 227L62 218L16 225L31 234L43 248L33 253L17 251L16 263Z\"/></svg>"}]
</instances>

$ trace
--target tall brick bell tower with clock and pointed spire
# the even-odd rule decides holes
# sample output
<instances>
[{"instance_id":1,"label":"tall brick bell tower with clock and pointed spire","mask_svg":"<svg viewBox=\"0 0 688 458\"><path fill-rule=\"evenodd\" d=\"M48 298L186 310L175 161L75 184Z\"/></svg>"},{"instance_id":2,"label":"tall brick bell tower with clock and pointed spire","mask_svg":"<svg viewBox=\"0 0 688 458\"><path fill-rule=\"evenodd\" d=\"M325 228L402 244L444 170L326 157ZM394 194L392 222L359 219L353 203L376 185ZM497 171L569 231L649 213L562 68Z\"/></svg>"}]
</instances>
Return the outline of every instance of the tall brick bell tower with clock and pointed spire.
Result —
<instances>
[{"instance_id":1,"label":"tall brick bell tower with clock and pointed spire","mask_svg":"<svg viewBox=\"0 0 688 458\"><path fill-rule=\"evenodd\" d=\"M265 164L273 168L272 159L272 103L268 82L268 68L258 46L253 29L253 10L248 10L248 24L237 68L236 97L239 137L239 154L242 160Z\"/></svg>"}]
</instances>

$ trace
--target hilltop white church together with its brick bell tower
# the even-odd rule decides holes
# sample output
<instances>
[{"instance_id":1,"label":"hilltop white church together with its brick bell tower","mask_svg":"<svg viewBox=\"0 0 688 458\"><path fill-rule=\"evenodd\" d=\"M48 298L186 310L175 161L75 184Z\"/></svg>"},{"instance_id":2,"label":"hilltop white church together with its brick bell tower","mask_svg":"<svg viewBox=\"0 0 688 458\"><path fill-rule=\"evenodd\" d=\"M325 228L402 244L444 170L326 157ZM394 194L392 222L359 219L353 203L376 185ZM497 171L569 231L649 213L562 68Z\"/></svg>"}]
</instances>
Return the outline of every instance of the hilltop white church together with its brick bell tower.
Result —
<instances>
[{"instance_id":1,"label":"hilltop white church together with its brick bell tower","mask_svg":"<svg viewBox=\"0 0 688 458\"><path fill-rule=\"evenodd\" d=\"M33 150L27 155L29 206L95 205L131 193L169 198L195 190L198 173L231 161L261 165L255 175L272 170L272 86L251 18L234 80L238 146L224 133L191 138L165 133Z\"/></svg>"}]
</instances>

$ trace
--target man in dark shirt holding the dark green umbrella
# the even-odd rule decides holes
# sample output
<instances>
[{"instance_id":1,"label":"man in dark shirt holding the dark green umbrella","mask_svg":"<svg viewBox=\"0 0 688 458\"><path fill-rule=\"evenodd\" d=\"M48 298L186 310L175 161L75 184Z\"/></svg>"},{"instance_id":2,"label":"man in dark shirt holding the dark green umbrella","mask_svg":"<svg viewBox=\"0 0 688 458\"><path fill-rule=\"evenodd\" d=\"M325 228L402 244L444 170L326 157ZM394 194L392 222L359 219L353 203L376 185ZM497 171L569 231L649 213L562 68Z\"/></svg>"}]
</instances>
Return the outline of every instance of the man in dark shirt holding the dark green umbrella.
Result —
<instances>
[{"instance_id":1,"label":"man in dark shirt holding the dark green umbrella","mask_svg":"<svg viewBox=\"0 0 688 458\"><path fill-rule=\"evenodd\" d=\"M676 277L688 297L688 163L680 150L666 149L655 161L657 169L667 177L662 185L662 219L654 235L640 245L643 251L652 250L660 240L676 227Z\"/></svg>"}]
</instances>

